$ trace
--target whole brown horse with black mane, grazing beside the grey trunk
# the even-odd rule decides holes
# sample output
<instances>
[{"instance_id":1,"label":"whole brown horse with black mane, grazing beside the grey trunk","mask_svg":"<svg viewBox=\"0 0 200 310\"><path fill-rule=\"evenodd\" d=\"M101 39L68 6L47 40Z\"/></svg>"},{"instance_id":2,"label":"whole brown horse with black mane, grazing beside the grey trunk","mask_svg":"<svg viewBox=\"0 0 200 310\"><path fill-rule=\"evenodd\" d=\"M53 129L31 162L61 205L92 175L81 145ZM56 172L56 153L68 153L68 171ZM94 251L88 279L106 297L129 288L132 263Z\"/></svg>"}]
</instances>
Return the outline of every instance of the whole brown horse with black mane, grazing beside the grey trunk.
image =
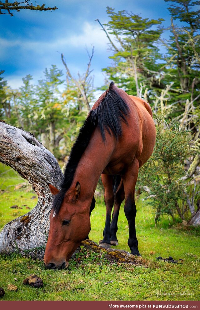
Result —
<instances>
[{"instance_id":1,"label":"whole brown horse with black mane, grazing beside the grey trunk","mask_svg":"<svg viewBox=\"0 0 200 310\"><path fill-rule=\"evenodd\" d=\"M156 130L147 102L129 96L112 82L89 112L73 145L59 191L50 214L50 230L44 256L48 268L68 266L68 260L80 242L88 238L94 192L102 174L105 188L106 225L102 246L118 244L117 221L125 198L128 220L128 245L139 255L135 230L134 200L138 169L153 152ZM113 219L111 211L114 204Z\"/></svg>"}]
</instances>

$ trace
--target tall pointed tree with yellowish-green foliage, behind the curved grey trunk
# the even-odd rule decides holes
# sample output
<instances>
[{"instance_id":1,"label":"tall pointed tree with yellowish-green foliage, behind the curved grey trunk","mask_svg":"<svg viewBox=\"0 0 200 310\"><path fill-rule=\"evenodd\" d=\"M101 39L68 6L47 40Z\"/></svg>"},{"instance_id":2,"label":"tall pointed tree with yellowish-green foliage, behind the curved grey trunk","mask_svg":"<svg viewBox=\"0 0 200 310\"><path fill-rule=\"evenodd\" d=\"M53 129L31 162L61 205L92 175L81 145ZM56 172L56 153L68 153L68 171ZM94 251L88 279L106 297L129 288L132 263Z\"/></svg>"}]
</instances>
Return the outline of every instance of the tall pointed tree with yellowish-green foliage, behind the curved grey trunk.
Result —
<instances>
[{"instance_id":1,"label":"tall pointed tree with yellowish-green foliage, behind the curved grey trunk","mask_svg":"<svg viewBox=\"0 0 200 310\"><path fill-rule=\"evenodd\" d=\"M65 103L58 86L64 83L61 80L62 70L56 65L44 71L45 78L39 80L36 86L36 102L34 109L37 119L37 136L42 138L44 145L56 152L60 139L63 137L63 127L66 121L64 113Z\"/></svg>"}]
</instances>

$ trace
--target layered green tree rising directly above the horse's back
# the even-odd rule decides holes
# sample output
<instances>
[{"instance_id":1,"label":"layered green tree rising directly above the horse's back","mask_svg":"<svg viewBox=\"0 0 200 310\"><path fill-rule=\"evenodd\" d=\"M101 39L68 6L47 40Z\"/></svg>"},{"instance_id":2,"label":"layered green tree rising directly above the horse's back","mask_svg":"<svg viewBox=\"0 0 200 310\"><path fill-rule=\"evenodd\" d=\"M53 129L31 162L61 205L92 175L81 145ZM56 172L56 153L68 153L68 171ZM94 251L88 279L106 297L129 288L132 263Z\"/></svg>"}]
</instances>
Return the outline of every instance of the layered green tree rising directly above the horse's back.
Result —
<instances>
[{"instance_id":1,"label":"layered green tree rising directly above the horse's back","mask_svg":"<svg viewBox=\"0 0 200 310\"><path fill-rule=\"evenodd\" d=\"M109 78L118 85L123 86L130 95L142 96L143 88L150 88L154 85L158 88L159 76L162 71L161 54L157 47L163 29L153 26L160 25L162 18L158 20L142 18L139 15L118 11L107 7L107 14L110 18L106 28L100 23L103 31L109 40L113 55L113 65L104 68ZM115 42L109 34L114 35ZM146 90L147 91L147 90Z\"/></svg>"}]
</instances>

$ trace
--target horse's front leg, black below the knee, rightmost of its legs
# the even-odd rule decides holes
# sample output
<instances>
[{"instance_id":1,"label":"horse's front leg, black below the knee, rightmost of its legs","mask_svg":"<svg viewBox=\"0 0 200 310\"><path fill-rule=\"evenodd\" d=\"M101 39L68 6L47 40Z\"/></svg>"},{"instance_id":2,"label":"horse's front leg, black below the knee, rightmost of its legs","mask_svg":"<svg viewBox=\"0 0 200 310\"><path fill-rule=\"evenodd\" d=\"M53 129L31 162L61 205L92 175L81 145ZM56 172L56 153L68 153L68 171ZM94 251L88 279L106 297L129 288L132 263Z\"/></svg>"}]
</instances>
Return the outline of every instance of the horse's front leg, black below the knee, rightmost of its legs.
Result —
<instances>
[{"instance_id":1,"label":"horse's front leg, black below the knee, rightmost of its legs","mask_svg":"<svg viewBox=\"0 0 200 310\"><path fill-rule=\"evenodd\" d=\"M140 256L135 230L135 217L137 212L135 205L135 184L138 178L138 169L139 163L138 160L135 159L122 178L124 181L125 192L124 213L128 220L129 231L128 246L130 247L131 254Z\"/></svg>"}]
</instances>

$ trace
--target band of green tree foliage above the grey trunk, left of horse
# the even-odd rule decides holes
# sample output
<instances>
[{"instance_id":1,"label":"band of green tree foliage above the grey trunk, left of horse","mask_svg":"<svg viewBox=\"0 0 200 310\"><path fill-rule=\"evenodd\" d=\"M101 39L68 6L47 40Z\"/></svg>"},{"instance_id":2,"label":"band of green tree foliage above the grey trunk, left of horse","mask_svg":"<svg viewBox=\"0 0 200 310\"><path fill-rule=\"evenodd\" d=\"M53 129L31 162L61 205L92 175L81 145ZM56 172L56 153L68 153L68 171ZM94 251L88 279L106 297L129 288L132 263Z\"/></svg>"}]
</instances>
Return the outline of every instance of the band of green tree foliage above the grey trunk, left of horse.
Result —
<instances>
[{"instance_id":1,"label":"band of green tree foliage above the grey trunk, left of horse","mask_svg":"<svg viewBox=\"0 0 200 310\"><path fill-rule=\"evenodd\" d=\"M44 78L37 85L31 83L31 75L22 79L18 90L0 80L2 119L32 132L58 159L69 154L87 116L83 98L74 85L68 85L63 94L59 90L64 83L62 76L62 70L52 65L45 69ZM86 91L88 100L92 100L94 90L88 85Z\"/></svg>"}]
</instances>

